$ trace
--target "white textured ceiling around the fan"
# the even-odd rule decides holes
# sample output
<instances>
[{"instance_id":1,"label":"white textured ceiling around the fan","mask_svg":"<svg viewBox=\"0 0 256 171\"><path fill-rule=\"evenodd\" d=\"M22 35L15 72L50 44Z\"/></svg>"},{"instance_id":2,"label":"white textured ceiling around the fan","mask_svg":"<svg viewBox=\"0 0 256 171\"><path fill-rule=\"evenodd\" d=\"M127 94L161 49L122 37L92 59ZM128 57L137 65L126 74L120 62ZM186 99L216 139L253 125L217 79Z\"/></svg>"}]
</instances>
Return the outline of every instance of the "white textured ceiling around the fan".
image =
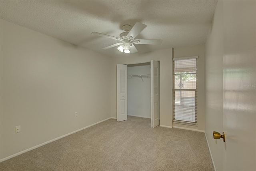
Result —
<instances>
[{"instance_id":1,"label":"white textured ceiling around the fan","mask_svg":"<svg viewBox=\"0 0 256 171\"><path fill-rule=\"evenodd\" d=\"M147 27L136 37L162 39L161 45L136 45L138 53L203 44L216 1L2 1L1 18L37 32L98 51L108 56L129 56L116 48L101 50L117 40L122 26L136 22Z\"/></svg>"}]
</instances>

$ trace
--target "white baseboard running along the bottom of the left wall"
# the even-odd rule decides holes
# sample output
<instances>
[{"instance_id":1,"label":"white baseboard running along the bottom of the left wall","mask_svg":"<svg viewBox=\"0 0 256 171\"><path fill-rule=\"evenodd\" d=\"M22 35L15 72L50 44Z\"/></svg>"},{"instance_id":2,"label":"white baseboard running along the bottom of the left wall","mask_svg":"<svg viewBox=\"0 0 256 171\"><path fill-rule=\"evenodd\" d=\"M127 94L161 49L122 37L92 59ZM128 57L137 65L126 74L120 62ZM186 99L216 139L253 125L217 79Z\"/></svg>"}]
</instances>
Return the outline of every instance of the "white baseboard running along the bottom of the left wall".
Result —
<instances>
[{"instance_id":1,"label":"white baseboard running along the bottom of the left wall","mask_svg":"<svg viewBox=\"0 0 256 171\"><path fill-rule=\"evenodd\" d=\"M46 145L46 144L48 144L48 143L51 143L51 142L53 142L53 141L56 141L56 140L61 139L61 138L63 138L63 137L66 137L66 136L68 136L68 135L71 135L71 134L76 133L76 132L78 132L78 131L82 131L83 129L86 129L86 128L91 127L91 126L93 126L93 125L96 125L96 124L98 124L98 123L104 122L104 121L106 121L106 120L108 120L108 119L116 119L116 118L114 118L114 117L109 117L109 118L104 119L104 120L102 120L102 121L93 123L92 125L88 125L88 126L86 126L86 127L83 127L83 128L81 128L81 129L78 129L78 130L76 130L76 131L72 131L72 132L67 133L67 134L65 134L65 135L62 135L62 136L60 136L60 137L51 139L50 141L46 141L46 142L44 142L44 143L42 143L42 144L36 145L36 146L34 146L34 147L28 148L28 149L26 149L26 150L20 151L20 152L18 152L18 153L15 153L15 154L13 154L13 155L10 155L10 156L8 156L8 157L5 157L5 158L3 158L3 159L0 159L0 162L6 161L6 160L8 160L8 159L11 159L12 157L16 157L16 156L18 156L18 155L21 155L21 154L23 154L23 153L26 153L26 152L28 152L28 151L31 151L31 150L33 150L33 149L36 149L36 148L38 148L38 147L41 147L41 146L43 146L43 145Z\"/></svg>"}]
</instances>

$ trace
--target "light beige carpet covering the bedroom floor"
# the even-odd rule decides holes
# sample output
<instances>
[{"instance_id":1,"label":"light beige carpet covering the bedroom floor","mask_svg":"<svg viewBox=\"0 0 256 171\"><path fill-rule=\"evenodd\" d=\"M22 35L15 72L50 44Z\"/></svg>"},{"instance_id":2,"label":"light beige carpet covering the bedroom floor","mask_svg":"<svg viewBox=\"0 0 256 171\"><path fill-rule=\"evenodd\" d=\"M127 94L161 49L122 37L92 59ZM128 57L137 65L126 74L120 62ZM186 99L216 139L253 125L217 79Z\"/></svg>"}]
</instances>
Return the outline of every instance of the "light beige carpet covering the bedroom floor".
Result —
<instances>
[{"instance_id":1,"label":"light beige carpet covering the bedroom floor","mask_svg":"<svg viewBox=\"0 0 256 171\"><path fill-rule=\"evenodd\" d=\"M204 133L109 119L3 161L1 171L213 171Z\"/></svg>"}]
</instances>

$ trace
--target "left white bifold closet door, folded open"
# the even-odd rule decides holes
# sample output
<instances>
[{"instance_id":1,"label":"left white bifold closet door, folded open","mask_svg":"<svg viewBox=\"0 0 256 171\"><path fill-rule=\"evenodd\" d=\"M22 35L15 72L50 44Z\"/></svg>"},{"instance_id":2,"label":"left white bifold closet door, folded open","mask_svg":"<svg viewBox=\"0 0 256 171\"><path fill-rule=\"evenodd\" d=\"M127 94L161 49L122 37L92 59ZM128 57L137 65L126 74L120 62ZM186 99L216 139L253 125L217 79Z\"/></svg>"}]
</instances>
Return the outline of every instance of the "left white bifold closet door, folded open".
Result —
<instances>
[{"instance_id":1,"label":"left white bifold closet door, folded open","mask_svg":"<svg viewBox=\"0 0 256 171\"><path fill-rule=\"evenodd\" d=\"M127 66L117 64L117 121L127 120Z\"/></svg>"}]
</instances>

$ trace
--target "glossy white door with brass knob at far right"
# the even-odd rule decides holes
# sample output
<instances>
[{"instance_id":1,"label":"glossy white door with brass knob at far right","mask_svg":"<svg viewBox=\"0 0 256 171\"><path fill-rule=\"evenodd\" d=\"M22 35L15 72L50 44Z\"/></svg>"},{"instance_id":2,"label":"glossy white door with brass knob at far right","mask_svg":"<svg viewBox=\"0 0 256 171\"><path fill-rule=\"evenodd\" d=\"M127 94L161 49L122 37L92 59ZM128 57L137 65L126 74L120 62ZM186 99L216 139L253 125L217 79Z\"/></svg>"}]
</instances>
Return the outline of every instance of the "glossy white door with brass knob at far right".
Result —
<instances>
[{"instance_id":1,"label":"glossy white door with brass knob at far right","mask_svg":"<svg viewBox=\"0 0 256 171\"><path fill-rule=\"evenodd\" d=\"M256 1L223 1L224 171L256 170Z\"/></svg>"}]
</instances>

